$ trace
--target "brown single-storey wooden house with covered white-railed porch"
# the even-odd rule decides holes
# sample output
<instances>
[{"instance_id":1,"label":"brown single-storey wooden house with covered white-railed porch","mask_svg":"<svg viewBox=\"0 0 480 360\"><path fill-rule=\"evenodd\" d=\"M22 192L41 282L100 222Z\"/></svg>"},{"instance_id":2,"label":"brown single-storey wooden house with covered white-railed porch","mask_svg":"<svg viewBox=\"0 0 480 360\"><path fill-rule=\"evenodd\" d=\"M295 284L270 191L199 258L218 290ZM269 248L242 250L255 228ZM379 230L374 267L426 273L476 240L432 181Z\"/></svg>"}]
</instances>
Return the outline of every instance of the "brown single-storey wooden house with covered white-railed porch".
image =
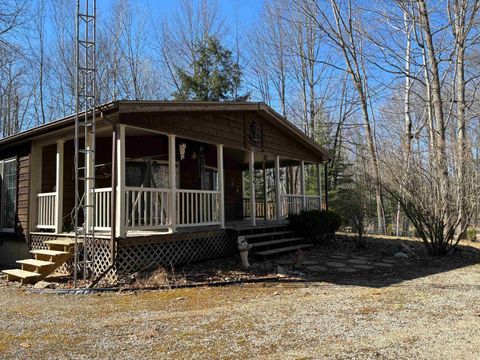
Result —
<instances>
[{"instance_id":1,"label":"brown single-storey wooden house with covered white-railed porch","mask_svg":"<svg viewBox=\"0 0 480 360\"><path fill-rule=\"evenodd\" d=\"M232 254L239 229L325 207L328 152L263 103L115 101L96 119L79 219L95 276ZM69 116L0 140L0 263L37 251L21 264L38 270L48 244L72 244L74 139Z\"/></svg>"}]
</instances>

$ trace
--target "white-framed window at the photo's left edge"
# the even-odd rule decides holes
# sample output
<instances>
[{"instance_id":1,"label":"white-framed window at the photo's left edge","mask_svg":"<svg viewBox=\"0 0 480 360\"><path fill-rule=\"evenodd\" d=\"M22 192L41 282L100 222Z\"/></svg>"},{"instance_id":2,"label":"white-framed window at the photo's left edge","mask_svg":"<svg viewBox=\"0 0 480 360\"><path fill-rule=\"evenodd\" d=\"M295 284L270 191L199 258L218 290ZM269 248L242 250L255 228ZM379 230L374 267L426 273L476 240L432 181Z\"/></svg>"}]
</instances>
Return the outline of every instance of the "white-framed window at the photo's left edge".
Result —
<instances>
[{"instance_id":1,"label":"white-framed window at the photo's left edge","mask_svg":"<svg viewBox=\"0 0 480 360\"><path fill-rule=\"evenodd\" d=\"M0 160L0 231L15 230L17 160Z\"/></svg>"}]
</instances>

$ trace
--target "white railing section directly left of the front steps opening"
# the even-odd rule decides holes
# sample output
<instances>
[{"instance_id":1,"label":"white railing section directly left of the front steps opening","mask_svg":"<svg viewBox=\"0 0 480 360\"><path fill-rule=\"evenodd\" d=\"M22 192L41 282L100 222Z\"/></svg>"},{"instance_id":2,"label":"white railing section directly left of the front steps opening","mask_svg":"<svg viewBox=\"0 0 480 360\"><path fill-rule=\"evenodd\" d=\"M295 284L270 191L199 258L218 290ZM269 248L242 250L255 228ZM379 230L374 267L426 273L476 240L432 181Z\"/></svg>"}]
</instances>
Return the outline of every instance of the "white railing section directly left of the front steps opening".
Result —
<instances>
[{"instance_id":1,"label":"white railing section directly left of the front steps opening","mask_svg":"<svg viewBox=\"0 0 480 360\"><path fill-rule=\"evenodd\" d=\"M220 224L220 191L177 190L177 226Z\"/></svg>"}]
</instances>

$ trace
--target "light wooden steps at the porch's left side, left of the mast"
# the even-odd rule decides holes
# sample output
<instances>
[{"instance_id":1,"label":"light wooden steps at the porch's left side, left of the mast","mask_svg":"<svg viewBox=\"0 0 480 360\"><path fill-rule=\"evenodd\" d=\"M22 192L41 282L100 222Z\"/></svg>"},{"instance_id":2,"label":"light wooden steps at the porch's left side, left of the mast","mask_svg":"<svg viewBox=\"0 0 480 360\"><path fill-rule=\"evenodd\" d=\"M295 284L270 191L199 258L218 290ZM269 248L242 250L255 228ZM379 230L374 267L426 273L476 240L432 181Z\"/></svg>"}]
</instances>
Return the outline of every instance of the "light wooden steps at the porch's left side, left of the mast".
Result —
<instances>
[{"instance_id":1,"label":"light wooden steps at the porch's left side, left of the mast","mask_svg":"<svg viewBox=\"0 0 480 360\"><path fill-rule=\"evenodd\" d=\"M73 257L75 241L58 239L45 241L48 249L32 250L33 259L17 260L21 269L2 270L9 281L19 280L22 284L34 284L55 274L61 265Z\"/></svg>"}]
</instances>

